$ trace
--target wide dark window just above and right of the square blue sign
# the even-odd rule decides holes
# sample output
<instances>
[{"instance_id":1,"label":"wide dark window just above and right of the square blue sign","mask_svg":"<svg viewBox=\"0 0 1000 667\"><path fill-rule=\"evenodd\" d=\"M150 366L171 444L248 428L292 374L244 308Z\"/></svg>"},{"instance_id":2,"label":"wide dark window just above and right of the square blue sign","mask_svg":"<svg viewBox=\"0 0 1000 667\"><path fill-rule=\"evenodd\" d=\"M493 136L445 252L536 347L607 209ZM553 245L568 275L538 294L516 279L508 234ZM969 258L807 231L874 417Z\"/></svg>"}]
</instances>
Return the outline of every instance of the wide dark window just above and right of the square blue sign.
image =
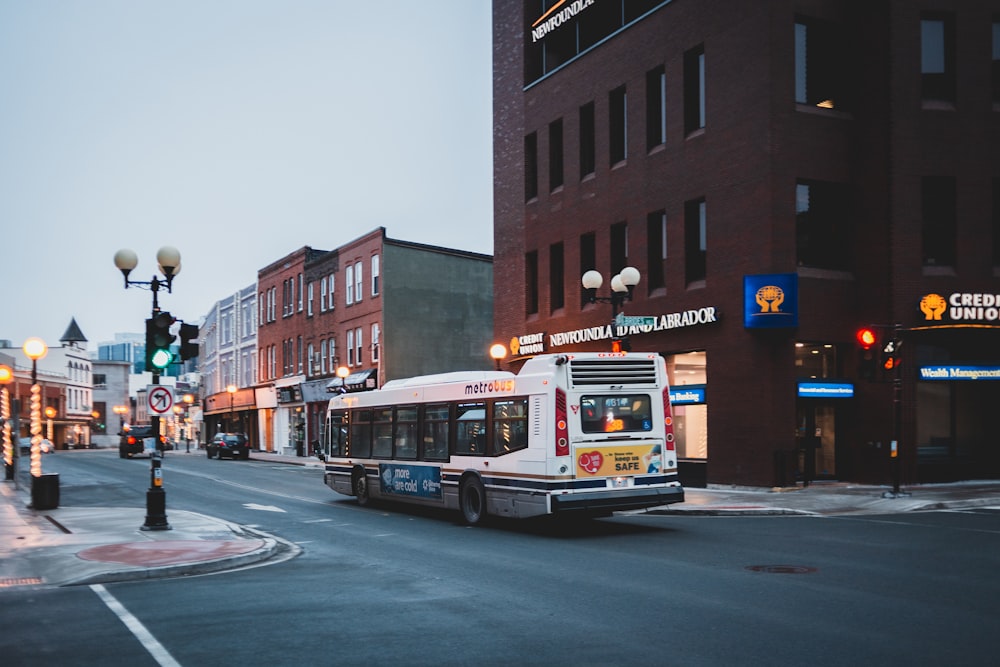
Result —
<instances>
[{"instance_id":1,"label":"wide dark window just above and right of the square blue sign","mask_svg":"<svg viewBox=\"0 0 1000 667\"><path fill-rule=\"evenodd\" d=\"M795 184L795 250L799 266L850 270L851 190L840 183Z\"/></svg>"}]
</instances>

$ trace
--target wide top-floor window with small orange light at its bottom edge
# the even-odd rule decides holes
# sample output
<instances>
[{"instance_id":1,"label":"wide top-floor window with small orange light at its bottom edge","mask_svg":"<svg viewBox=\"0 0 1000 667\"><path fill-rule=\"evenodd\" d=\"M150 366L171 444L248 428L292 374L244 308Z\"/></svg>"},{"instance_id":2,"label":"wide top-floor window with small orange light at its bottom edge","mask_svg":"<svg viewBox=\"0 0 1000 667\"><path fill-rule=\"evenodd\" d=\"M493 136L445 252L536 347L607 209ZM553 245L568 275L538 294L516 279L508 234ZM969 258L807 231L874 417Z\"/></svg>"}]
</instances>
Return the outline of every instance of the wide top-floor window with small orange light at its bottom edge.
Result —
<instances>
[{"instance_id":1,"label":"wide top-floor window with small orange light at its bottom edge","mask_svg":"<svg viewBox=\"0 0 1000 667\"><path fill-rule=\"evenodd\" d=\"M843 28L825 21L795 22L795 102L824 109L849 109L850 50Z\"/></svg>"}]
</instances>

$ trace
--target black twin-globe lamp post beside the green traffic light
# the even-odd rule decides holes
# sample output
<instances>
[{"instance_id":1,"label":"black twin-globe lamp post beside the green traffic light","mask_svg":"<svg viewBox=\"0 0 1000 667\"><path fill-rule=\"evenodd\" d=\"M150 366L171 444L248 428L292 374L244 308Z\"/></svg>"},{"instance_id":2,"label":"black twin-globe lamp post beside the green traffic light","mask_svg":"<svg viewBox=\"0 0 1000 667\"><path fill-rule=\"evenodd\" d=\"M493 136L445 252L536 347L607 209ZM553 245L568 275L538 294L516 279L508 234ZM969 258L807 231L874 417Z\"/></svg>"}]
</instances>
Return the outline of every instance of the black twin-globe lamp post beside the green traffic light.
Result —
<instances>
[{"instance_id":1,"label":"black twin-globe lamp post beside the green traffic light","mask_svg":"<svg viewBox=\"0 0 1000 667\"><path fill-rule=\"evenodd\" d=\"M159 266L160 273L162 273L165 278L163 281L161 281L155 273L153 274L152 280L149 281L129 279L129 274L132 273L132 270L139 264L139 257L135 254L134 250L129 250L128 248L119 250L115 253L114 261L115 266L122 272L122 276L125 278L125 289L128 289L129 287L139 287L148 289L153 293L153 311L150 318L155 319L156 316L160 314L160 288L165 286L167 288L167 292L172 292L174 278L178 273L180 273L180 251L172 246L163 246L156 252L156 263ZM147 336L148 332L149 323L147 322ZM148 344L149 341L147 340L147 345ZM160 368L154 366L149 370L153 374L153 384L160 384ZM159 415L154 414L150 416L149 425L153 437L157 438L159 441ZM152 458L150 460L150 482L149 490L146 492L146 522L141 526L142 530L170 530L170 524L167 523L167 494L163 490L161 457L162 452L160 448L157 447L153 451Z\"/></svg>"}]
</instances>

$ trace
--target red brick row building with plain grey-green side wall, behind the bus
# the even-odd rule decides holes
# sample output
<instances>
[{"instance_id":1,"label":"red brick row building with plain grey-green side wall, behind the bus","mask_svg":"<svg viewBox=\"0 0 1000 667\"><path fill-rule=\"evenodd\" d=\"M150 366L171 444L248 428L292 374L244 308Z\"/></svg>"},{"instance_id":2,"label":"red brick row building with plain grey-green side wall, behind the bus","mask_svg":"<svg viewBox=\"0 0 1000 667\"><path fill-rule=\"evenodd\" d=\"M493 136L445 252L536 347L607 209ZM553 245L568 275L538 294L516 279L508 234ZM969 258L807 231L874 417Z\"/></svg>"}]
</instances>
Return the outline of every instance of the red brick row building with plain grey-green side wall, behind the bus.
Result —
<instances>
[{"instance_id":1,"label":"red brick row building with plain grey-green side wall, behind the bus","mask_svg":"<svg viewBox=\"0 0 1000 667\"><path fill-rule=\"evenodd\" d=\"M262 268L257 306L259 379L236 396L255 411L266 451L310 452L332 392L490 367L492 259L391 239L382 227ZM216 403L223 409L224 397Z\"/></svg>"}]
</instances>

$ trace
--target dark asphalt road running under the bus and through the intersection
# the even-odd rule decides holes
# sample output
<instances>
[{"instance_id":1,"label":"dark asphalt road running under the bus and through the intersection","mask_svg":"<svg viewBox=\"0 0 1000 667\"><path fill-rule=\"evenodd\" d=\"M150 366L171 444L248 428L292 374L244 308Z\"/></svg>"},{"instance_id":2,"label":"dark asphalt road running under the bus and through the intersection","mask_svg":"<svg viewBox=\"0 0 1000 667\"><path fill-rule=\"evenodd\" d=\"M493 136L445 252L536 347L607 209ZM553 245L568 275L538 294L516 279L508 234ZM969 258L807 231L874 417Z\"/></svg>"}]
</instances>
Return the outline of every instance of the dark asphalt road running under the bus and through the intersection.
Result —
<instances>
[{"instance_id":1,"label":"dark asphalt road running under the bus and through the intersection","mask_svg":"<svg viewBox=\"0 0 1000 667\"><path fill-rule=\"evenodd\" d=\"M63 506L142 506L149 463L60 452ZM0 591L4 665L992 664L1000 515L645 514L578 524L359 508L317 469L168 454L167 515L298 543L186 579ZM101 594L121 608L113 611ZM125 614L122 614L124 610ZM134 617L149 636L129 629ZM123 620L124 619L124 620Z\"/></svg>"}]
</instances>

